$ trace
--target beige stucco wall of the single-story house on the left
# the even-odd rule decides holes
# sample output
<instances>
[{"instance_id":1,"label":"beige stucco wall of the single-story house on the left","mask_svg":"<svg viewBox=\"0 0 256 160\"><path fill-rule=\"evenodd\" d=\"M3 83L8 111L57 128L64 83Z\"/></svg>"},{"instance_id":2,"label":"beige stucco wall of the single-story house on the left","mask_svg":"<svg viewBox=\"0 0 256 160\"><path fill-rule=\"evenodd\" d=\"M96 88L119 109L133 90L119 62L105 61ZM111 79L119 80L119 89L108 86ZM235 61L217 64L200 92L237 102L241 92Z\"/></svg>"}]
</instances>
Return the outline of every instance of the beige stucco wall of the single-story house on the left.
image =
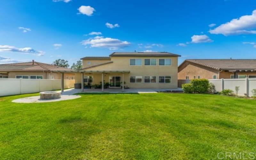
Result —
<instances>
[{"instance_id":1,"label":"beige stucco wall of the single-story house on the left","mask_svg":"<svg viewBox=\"0 0 256 160\"><path fill-rule=\"evenodd\" d=\"M52 72L9 72L8 78L16 78L16 76L43 76L43 79L50 79L50 76L53 76L54 79L61 79L61 73L52 73ZM75 74L64 73L64 79L66 76L75 76Z\"/></svg>"}]
</instances>

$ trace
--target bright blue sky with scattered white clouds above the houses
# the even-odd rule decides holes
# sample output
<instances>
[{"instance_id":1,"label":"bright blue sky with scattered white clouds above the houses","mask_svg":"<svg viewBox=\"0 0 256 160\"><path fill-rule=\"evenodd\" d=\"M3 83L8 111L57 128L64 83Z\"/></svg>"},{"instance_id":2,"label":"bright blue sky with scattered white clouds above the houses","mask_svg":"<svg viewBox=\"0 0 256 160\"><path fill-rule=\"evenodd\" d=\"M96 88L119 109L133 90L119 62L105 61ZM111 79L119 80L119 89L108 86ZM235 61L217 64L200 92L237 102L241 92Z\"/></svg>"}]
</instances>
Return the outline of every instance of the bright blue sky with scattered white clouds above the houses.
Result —
<instances>
[{"instance_id":1,"label":"bright blue sky with scattered white clouds above the houses","mask_svg":"<svg viewBox=\"0 0 256 160\"><path fill-rule=\"evenodd\" d=\"M0 6L0 63L60 58L71 65L134 50L180 54L179 63L256 58L255 0L1 0Z\"/></svg>"}]
</instances>

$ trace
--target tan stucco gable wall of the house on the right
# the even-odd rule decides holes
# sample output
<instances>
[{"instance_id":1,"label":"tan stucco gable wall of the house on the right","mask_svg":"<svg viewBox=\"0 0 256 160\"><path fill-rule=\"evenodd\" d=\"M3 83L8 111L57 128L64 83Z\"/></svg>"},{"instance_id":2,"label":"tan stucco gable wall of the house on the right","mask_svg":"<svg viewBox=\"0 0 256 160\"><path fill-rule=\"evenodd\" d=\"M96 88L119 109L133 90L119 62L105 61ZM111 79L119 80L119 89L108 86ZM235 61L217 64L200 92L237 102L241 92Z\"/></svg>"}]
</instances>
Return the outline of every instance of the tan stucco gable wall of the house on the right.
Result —
<instances>
[{"instance_id":1,"label":"tan stucco gable wall of the house on the right","mask_svg":"<svg viewBox=\"0 0 256 160\"><path fill-rule=\"evenodd\" d=\"M189 76L189 79L193 79L194 76L196 76L196 78L200 76L200 78L212 79L213 75L217 75L217 79L219 78L218 70L189 62L183 63L178 70L178 79L186 79L186 76Z\"/></svg>"}]
</instances>

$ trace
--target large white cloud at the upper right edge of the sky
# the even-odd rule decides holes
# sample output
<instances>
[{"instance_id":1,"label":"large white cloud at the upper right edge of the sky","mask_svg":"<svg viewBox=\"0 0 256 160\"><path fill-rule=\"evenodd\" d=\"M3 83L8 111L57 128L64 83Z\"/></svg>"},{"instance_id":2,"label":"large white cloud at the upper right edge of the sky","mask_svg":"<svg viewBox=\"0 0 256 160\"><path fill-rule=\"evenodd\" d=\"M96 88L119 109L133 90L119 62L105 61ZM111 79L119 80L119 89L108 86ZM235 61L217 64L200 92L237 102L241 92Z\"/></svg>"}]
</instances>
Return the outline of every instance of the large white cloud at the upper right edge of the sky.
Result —
<instances>
[{"instance_id":1,"label":"large white cloud at the upper right edge of the sky","mask_svg":"<svg viewBox=\"0 0 256 160\"><path fill-rule=\"evenodd\" d=\"M220 25L217 28L210 30L211 34L240 35L240 34L256 34L256 10L252 15L241 16L240 18L233 19L230 22Z\"/></svg>"}]
</instances>

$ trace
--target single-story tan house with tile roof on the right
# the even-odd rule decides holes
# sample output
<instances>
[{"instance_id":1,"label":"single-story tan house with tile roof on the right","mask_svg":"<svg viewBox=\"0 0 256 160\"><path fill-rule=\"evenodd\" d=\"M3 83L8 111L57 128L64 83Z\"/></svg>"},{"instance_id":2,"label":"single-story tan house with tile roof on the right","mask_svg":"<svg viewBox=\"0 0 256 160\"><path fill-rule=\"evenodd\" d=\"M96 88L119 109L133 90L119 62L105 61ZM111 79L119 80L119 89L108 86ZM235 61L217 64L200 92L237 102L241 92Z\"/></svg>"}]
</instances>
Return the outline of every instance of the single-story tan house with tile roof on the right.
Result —
<instances>
[{"instance_id":1,"label":"single-story tan house with tile roof on the right","mask_svg":"<svg viewBox=\"0 0 256 160\"><path fill-rule=\"evenodd\" d=\"M190 59L178 67L178 79L256 78L256 60Z\"/></svg>"}]
</instances>

